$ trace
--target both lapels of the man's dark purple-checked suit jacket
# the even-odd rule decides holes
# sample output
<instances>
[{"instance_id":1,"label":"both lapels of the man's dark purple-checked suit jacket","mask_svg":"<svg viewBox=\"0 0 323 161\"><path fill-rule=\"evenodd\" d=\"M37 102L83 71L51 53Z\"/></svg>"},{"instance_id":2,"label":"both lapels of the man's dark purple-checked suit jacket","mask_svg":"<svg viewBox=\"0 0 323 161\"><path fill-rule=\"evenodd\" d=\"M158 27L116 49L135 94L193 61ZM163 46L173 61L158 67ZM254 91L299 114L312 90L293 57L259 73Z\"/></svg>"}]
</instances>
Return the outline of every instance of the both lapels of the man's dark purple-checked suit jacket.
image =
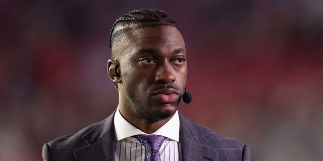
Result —
<instances>
[{"instance_id":1,"label":"both lapels of the man's dark purple-checked suit jacket","mask_svg":"<svg viewBox=\"0 0 323 161\"><path fill-rule=\"evenodd\" d=\"M86 146L75 150L77 161L82 160L114 160L114 115L97 123L82 139ZM206 143L209 134L196 130L192 121L179 113L180 117L180 148L182 160L212 160L217 161L219 153L210 148Z\"/></svg>"}]
</instances>

